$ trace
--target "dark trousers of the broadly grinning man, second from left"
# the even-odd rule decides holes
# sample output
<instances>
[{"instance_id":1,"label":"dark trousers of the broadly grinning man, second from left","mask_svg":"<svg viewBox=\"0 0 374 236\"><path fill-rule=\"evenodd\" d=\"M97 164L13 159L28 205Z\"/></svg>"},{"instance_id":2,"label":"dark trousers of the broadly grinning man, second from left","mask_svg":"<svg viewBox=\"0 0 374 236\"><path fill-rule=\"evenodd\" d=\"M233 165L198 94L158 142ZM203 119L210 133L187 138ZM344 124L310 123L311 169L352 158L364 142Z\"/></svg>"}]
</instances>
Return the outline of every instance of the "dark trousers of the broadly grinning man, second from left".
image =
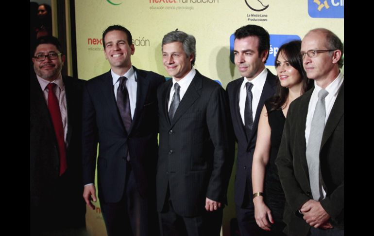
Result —
<instances>
[{"instance_id":1,"label":"dark trousers of the broadly grinning man, second from left","mask_svg":"<svg viewBox=\"0 0 374 236\"><path fill-rule=\"evenodd\" d=\"M159 235L155 204L140 196L134 172L126 163L126 186L119 202L100 202L108 236ZM153 196L154 197L154 196Z\"/></svg>"}]
</instances>

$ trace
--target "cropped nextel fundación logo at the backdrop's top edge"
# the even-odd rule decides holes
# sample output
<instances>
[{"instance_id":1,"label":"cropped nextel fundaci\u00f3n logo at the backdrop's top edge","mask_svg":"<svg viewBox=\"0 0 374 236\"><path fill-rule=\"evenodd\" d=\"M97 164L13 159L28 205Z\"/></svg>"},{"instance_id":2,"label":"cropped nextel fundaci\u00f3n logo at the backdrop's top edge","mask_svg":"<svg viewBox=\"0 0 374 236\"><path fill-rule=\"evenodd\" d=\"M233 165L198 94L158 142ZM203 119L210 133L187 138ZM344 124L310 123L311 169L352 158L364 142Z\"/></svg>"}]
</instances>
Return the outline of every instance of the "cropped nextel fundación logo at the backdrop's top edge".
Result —
<instances>
[{"instance_id":1,"label":"cropped nextel fundaci\u00f3n logo at the backdrop's top edge","mask_svg":"<svg viewBox=\"0 0 374 236\"><path fill-rule=\"evenodd\" d=\"M218 4L220 0L146 0L151 6L150 10L181 11L194 10L194 7L206 4ZM188 5L187 5L188 4Z\"/></svg>"}]
</instances>

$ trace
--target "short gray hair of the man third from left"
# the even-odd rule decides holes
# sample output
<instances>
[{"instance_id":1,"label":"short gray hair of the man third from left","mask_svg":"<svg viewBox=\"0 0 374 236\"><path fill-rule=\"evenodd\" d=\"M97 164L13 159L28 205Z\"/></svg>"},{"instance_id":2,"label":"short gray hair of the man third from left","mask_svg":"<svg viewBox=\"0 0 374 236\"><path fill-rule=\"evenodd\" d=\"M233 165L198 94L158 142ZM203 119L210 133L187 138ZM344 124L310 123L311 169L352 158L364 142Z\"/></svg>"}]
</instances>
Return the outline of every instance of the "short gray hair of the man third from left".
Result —
<instances>
[{"instance_id":1,"label":"short gray hair of the man third from left","mask_svg":"<svg viewBox=\"0 0 374 236\"><path fill-rule=\"evenodd\" d=\"M186 53L187 57L193 54L193 60L191 65L195 65L196 60L196 39L192 35L187 35L183 31L171 31L164 36L162 39L162 46L167 43L181 42L183 46L183 51Z\"/></svg>"}]
</instances>

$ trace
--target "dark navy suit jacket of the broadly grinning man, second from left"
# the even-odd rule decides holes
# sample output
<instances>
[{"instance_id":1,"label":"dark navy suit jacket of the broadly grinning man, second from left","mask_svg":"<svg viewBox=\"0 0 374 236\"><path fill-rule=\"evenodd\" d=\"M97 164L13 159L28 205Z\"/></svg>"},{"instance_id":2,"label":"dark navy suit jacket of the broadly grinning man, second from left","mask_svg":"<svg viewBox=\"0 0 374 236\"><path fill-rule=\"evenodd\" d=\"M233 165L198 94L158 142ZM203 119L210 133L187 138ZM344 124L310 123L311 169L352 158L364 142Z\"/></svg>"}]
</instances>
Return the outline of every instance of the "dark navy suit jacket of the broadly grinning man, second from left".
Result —
<instances>
[{"instance_id":1,"label":"dark navy suit jacket of the broadly grinning man, second from left","mask_svg":"<svg viewBox=\"0 0 374 236\"><path fill-rule=\"evenodd\" d=\"M157 87L165 77L137 70L136 109L127 134L113 91L111 72L90 79L83 92L83 181L94 183L97 144L99 198L118 202L123 195L126 157L130 154L136 185L142 196L154 189L157 162Z\"/></svg>"}]
</instances>

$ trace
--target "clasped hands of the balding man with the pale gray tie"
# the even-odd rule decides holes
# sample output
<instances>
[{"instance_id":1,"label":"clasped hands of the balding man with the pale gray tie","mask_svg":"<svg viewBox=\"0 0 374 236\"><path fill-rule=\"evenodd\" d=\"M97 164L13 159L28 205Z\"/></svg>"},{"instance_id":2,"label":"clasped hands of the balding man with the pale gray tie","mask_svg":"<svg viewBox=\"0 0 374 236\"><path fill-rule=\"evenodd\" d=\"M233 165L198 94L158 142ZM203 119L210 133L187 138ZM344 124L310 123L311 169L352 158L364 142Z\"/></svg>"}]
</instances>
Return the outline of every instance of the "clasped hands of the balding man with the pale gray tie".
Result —
<instances>
[{"instance_id":1,"label":"clasped hands of the balding man with the pale gray tie","mask_svg":"<svg viewBox=\"0 0 374 236\"><path fill-rule=\"evenodd\" d=\"M304 219L306 223L314 228L318 228L320 226L323 227L332 227L331 224L327 222L330 218L330 215L323 209L321 203L315 200L308 200L304 205L300 208L300 211L304 215ZM328 224L327 224L328 223Z\"/></svg>"}]
</instances>

